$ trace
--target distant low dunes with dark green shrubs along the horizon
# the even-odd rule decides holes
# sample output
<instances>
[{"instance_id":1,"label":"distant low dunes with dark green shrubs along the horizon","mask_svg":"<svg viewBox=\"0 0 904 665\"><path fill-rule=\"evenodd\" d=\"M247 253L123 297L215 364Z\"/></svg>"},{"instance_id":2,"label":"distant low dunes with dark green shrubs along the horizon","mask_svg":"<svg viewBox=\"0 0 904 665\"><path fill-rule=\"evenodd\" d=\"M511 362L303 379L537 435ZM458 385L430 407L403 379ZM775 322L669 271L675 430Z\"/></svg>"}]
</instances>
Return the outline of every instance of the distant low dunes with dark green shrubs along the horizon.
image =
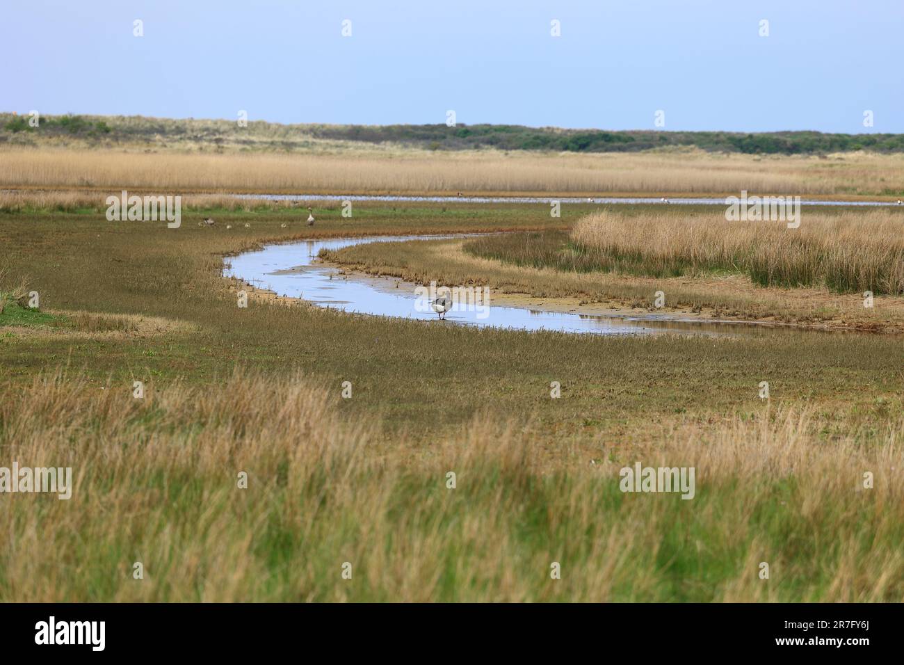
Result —
<instances>
[{"instance_id":1,"label":"distant low dunes with dark green shrubs along the horizon","mask_svg":"<svg viewBox=\"0 0 904 665\"><path fill-rule=\"evenodd\" d=\"M254 119L168 119L142 116L32 116L0 113L0 144L68 147L179 147L214 150L304 151L382 149L385 147L457 150L530 150L546 152L640 152L692 148L706 152L757 155L825 155L869 150L904 152L900 134L824 134L777 131L756 134L727 131L566 129L520 125L282 125Z\"/></svg>"}]
</instances>

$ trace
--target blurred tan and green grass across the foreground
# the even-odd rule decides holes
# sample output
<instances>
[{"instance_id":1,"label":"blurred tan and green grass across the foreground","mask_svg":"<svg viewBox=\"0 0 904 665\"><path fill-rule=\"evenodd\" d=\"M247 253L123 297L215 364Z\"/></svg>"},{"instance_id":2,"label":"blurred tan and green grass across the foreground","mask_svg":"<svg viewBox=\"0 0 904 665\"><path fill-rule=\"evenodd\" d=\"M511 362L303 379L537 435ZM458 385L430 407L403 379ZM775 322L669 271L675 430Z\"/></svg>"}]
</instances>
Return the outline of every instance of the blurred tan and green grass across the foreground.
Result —
<instances>
[{"instance_id":1,"label":"blurred tan and green grass across the foreground","mask_svg":"<svg viewBox=\"0 0 904 665\"><path fill-rule=\"evenodd\" d=\"M64 372L2 390L4 463L71 466L75 479L69 501L0 496L5 600L904 595L900 417L870 445L859 430L820 442L824 423L806 410L680 421L658 445L589 465L574 451L550 461L529 428L487 416L428 449L379 444L374 423L348 422L301 375L130 391ZM618 469L636 460L695 466L696 498L622 494ZM858 489L864 470L874 489Z\"/></svg>"}]
</instances>

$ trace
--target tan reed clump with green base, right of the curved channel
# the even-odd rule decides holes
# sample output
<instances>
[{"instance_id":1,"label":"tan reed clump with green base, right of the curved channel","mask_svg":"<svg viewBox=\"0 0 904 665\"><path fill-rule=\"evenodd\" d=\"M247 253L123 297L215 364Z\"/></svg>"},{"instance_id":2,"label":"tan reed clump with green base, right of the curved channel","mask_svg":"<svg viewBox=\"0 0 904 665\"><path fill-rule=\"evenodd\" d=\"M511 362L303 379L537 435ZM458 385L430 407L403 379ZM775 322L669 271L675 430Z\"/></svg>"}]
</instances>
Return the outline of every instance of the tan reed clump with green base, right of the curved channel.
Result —
<instances>
[{"instance_id":1,"label":"tan reed clump with green base, right of the curved channel","mask_svg":"<svg viewBox=\"0 0 904 665\"><path fill-rule=\"evenodd\" d=\"M571 238L599 270L654 277L739 271L762 286L904 293L899 211L805 211L796 229L784 222L728 222L721 209L636 217L601 212L579 221Z\"/></svg>"}]
</instances>

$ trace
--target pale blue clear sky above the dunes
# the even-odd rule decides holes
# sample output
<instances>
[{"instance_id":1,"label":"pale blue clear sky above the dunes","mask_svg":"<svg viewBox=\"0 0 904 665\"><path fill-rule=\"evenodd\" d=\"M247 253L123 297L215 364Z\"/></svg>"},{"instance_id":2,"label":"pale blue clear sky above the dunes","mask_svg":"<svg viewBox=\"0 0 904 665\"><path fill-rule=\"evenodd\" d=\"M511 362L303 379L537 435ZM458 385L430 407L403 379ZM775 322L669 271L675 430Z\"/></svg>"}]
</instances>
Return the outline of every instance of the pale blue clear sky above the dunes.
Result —
<instances>
[{"instance_id":1,"label":"pale blue clear sky above the dunes","mask_svg":"<svg viewBox=\"0 0 904 665\"><path fill-rule=\"evenodd\" d=\"M904 132L902 0L27 0L0 44L20 113Z\"/></svg>"}]
</instances>

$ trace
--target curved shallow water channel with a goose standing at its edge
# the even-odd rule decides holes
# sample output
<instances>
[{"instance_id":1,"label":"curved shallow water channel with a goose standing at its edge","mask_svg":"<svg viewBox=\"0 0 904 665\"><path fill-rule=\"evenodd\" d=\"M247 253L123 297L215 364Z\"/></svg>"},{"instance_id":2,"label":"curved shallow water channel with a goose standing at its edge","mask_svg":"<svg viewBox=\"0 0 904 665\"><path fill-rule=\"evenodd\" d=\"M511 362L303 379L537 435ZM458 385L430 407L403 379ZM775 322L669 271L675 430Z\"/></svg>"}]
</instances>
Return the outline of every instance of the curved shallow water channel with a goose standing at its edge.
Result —
<instances>
[{"instance_id":1,"label":"curved shallow water channel with a goose standing at its edge","mask_svg":"<svg viewBox=\"0 0 904 665\"><path fill-rule=\"evenodd\" d=\"M322 249L338 250L363 242L440 240L463 236L379 236L291 242L268 245L259 252L247 252L226 261L223 274L235 277L280 296L300 298L318 307L341 309L359 314L435 321L437 325L512 328L518 330L558 330L600 335L687 334L728 335L774 334L779 329L738 323L682 320L673 316L611 316L552 312L542 309L488 307L473 299L460 299L446 315L447 323L426 307L427 300L417 285L392 278L345 275L334 266L317 259Z\"/></svg>"}]
</instances>

